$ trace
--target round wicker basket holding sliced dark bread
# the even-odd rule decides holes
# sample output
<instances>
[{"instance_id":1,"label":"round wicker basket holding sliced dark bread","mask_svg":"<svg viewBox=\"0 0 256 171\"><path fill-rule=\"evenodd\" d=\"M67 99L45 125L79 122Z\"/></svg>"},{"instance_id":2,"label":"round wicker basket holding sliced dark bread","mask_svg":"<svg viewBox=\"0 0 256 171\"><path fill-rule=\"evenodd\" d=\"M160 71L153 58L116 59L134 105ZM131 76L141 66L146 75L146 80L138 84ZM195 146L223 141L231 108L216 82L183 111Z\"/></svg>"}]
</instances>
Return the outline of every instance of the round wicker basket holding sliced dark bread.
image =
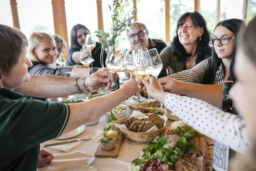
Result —
<instances>
[{"instance_id":1,"label":"round wicker basket holding sliced dark bread","mask_svg":"<svg viewBox=\"0 0 256 171\"><path fill-rule=\"evenodd\" d=\"M148 114L146 114L146 113L144 113L144 114L148 116ZM130 117L131 117L131 115L126 116L120 122L125 121L126 119L129 119ZM166 121L166 125L163 126L161 129L159 129L157 131L150 131L150 132L132 132L132 131L126 131L122 128L119 128L119 129L123 132L123 134L127 138L129 138L133 142L147 143L147 142L153 140L156 136L160 135L165 130L167 124L168 124L168 120Z\"/></svg>"}]
</instances>

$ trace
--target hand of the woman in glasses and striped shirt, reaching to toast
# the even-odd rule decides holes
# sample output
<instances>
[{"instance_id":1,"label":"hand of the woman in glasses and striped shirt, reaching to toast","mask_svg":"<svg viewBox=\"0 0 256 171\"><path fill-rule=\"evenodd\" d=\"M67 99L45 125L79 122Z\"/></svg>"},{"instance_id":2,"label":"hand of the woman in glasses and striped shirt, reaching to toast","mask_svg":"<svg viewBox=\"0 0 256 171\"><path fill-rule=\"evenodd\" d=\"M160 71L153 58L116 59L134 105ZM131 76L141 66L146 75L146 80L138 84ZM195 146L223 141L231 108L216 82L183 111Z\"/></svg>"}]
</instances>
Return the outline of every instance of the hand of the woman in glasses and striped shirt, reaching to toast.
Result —
<instances>
[{"instance_id":1,"label":"hand of the woman in glasses and striped shirt, reaching to toast","mask_svg":"<svg viewBox=\"0 0 256 171\"><path fill-rule=\"evenodd\" d=\"M177 81L171 78L163 78L160 80L160 84L165 92L174 93L181 95L186 83L182 81Z\"/></svg>"}]
</instances>

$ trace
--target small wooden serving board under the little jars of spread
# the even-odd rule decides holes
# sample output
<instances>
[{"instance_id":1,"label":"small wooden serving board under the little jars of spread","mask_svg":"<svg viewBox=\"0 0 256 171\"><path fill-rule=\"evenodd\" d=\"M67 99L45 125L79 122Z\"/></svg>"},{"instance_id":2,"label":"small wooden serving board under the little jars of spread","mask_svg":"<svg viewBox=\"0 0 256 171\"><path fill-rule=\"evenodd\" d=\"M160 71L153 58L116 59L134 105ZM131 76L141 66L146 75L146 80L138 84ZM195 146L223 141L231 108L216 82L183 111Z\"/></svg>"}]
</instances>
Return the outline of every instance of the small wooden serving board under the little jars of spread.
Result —
<instances>
[{"instance_id":1,"label":"small wooden serving board under the little jars of spread","mask_svg":"<svg viewBox=\"0 0 256 171\"><path fill-rule=\"evenodd\" d=\"M94 156L100 157L100 158L116 158L116 157L118 157L120 148L122 145L122 141L123 141L123 132L120 131L120 133L118 134L118 141L115 144L115 149L113 149L111 151L103 151L101 149L101 144L99 144Z\"/></svg>"}]
</instances>

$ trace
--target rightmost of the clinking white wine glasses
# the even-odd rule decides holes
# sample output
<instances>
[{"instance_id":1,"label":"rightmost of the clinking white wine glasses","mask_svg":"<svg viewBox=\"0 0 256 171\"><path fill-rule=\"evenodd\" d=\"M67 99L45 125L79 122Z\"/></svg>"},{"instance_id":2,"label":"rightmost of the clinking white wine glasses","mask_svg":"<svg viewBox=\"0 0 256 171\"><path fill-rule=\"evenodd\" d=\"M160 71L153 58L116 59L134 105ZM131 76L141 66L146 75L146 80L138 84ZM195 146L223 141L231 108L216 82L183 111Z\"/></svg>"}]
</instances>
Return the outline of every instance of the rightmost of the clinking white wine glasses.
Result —
<instances>
[{"instance_id":1,"label":"rightmost of the clinking white wine glasses","mask_svg":"<svg viewBox=\"0 0 256 171\"><path fill-rule=\"evenodd\" d=\"M148 50L148 54L151 58L151 61L152 61L152 64L153 64L153 70L151 72L151 75L153 77L155 77L157 79L158 75L160 74L160 72L162 71L163 69L163 63L162 63L162 60L156 50L156 48L154 49L150 49ZM154 102L156 101L155 99L152 99L149 95L147 97L147 101L148 102Z\"/></svg>"}]
</instances>

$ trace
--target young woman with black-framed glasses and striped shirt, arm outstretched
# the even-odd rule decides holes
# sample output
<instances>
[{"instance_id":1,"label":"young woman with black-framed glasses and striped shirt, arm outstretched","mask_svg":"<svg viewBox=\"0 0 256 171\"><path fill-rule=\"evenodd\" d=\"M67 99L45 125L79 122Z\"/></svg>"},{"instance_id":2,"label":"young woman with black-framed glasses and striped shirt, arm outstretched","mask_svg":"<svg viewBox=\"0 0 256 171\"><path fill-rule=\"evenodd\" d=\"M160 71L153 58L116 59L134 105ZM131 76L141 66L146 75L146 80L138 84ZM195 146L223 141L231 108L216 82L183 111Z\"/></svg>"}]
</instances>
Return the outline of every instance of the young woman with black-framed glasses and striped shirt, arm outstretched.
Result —
<instances>
[{"instance_id":1,"label":"young woman with black-framed glasses and striped shirt, arm outstretched","mask_svg":"<svg viewBox=\"0 0 256 171\"><path fill-rule=\"evenodd\" d=\"M214 36L210 38L210 43L214 46L212 57L190 70L163 78L160 80L163 89L201 99L220 107L223 81L236 81L234 76L235 40L241 26L245 27L245 23L240 19L229 19L218 23Z\"/></svg>"}]
</instances>

